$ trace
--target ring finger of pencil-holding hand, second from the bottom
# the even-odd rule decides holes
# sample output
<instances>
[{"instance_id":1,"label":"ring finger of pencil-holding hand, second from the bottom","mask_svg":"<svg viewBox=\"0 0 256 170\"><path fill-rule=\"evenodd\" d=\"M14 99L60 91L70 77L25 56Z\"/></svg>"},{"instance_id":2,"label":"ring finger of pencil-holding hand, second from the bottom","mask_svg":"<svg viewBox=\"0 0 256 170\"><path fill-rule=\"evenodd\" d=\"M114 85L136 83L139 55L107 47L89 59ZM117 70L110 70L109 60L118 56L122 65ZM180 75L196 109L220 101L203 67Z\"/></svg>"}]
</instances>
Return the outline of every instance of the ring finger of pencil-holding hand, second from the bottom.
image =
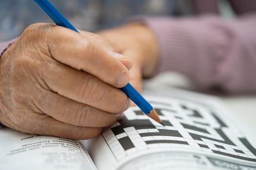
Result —
<instances>
[{"instance_id":1,"label":"ring finger of pencil-holding hand, second from the bottom","mask_svg":"<svg viewBox=\"0 0 256 170\"><path fill-rule=\"evenodd\" d=\"M48 90L41 92L38 98L45 99L35 102L44 114L76 126L106 127L116 122L120 115L70 100Z\"/></svg>"}]
</instances>

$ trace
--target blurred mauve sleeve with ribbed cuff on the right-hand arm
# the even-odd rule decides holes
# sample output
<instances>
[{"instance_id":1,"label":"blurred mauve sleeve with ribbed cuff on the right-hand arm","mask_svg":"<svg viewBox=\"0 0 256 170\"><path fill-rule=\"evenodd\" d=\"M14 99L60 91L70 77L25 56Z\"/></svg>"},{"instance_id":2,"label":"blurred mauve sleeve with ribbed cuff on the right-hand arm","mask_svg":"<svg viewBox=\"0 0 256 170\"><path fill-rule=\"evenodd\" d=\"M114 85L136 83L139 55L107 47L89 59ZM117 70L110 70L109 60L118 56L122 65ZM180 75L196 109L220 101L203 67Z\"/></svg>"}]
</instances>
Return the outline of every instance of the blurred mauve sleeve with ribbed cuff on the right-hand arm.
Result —
<instances>
[{"instance_id":1,"label":"blurred mauve sleeve with ribbed cuff on the right-hand arm","mask_svg":"<svg viewBox=\"0 0 256 170\"><path fill-rule=\"evenodd\" d=\"M157 36L158 72L177 71L200 88L256 92L256 14L229 22L217 16L138 20Z\"/></svg>"}]
</instances>

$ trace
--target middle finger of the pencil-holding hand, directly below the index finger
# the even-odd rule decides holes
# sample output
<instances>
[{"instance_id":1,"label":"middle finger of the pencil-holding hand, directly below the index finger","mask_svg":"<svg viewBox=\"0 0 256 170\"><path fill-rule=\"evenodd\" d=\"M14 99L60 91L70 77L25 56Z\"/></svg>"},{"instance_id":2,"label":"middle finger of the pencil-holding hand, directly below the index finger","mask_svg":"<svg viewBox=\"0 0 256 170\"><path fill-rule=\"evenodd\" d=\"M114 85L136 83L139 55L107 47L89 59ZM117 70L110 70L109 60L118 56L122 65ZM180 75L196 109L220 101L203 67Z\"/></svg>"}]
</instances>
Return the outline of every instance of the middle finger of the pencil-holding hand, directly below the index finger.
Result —
<instances>
[{"instance_id":1,"label":"middle finger of the pencil-holding hand, directly below the index finger","mask_svg":"<svg viewBox=\"0 0 256 170\"><path fill-rule=\"evenodd\" d=\"M54 92L105 112L122 112L129 100L124 92L105 84L98 78L61 63L48 62L43 79Z\"/></svg>"}]
</instances>

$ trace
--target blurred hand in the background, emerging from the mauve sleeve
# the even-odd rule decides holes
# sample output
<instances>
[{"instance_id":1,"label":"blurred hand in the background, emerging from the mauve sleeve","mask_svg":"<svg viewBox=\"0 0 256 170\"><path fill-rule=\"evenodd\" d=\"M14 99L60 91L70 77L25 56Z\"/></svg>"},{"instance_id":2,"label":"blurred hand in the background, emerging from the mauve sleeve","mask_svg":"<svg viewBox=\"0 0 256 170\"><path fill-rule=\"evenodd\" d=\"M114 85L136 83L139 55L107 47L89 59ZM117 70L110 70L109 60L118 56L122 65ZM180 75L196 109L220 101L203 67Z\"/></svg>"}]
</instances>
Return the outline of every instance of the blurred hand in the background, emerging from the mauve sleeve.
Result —
<instances>
[{"instance_id":1,"label":"blurred hand in the background, emerging from the mauve sleeve","mask_svg":"<svg viewBox=\"0 0 256 170\"><path fill-rule=\"evenodd\" d=\"M147 26L135 23L98 34L109 39L118 53L133 60L129 82L141 92L142 77L151 77L158 65L158 45L154 33Z\"/></svg>"}]
</instances>

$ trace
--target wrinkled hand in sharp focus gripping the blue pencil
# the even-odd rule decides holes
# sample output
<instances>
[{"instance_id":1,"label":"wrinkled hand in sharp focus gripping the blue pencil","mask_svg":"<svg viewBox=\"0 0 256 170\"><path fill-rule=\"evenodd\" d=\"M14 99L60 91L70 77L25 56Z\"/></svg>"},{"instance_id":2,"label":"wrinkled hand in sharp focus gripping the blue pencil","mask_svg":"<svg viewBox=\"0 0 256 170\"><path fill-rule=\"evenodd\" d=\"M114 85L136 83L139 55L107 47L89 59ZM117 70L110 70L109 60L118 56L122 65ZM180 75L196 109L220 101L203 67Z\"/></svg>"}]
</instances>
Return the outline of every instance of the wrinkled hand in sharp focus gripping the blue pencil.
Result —
<instances>
[{"instance_id":1,"label":"wrinkled hand in sharp focus gripping the blue pencil","mask_svg":"<svg viewBox=\"0 0 256 170\"><path fill-rule=\"evenodd\" d=\"M33 24L0 59L0 122L23 133L85 139L129 106L118 87L132 61L99 35Z\"/></svg>"}]
</instances>

